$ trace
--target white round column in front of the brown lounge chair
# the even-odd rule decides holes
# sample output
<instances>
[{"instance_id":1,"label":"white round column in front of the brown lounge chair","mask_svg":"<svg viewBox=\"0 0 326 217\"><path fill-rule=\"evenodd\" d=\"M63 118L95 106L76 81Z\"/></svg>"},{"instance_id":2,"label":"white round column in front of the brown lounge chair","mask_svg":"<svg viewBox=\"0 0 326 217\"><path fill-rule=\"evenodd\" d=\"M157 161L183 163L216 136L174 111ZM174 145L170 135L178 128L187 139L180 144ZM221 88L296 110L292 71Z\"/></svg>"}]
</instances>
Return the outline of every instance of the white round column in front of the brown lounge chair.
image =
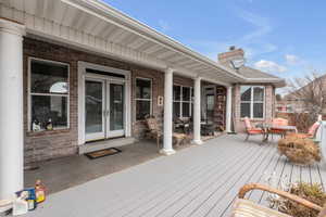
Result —
<instances>
[{"instance_id":1,"label":"white round column in front of the brown lounge chair","mask_svg":"<svg viewBox=\"0 0 326 217\"><path fill-rule=\"evenodd\" d=\"M165 71L164 78L164 135L163 135L163 149L160 153L165 155L174 154L173 150L173 69Z\"/></svg>"}]
</instances>

